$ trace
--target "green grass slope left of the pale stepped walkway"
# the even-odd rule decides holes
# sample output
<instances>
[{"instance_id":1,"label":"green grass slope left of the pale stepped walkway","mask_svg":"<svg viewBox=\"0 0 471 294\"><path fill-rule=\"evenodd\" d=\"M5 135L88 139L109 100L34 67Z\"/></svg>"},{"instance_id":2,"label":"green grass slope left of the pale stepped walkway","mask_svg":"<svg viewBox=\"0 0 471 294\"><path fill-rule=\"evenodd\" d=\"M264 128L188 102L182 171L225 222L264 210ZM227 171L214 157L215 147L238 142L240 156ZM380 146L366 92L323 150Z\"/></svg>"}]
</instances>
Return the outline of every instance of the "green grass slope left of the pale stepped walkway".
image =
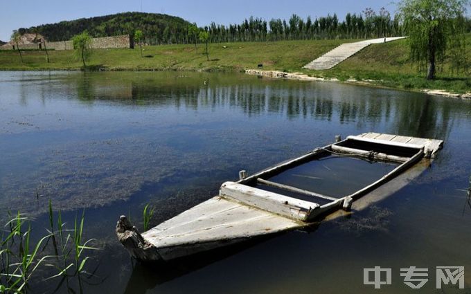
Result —
<instances>
[{"instance_id":1,"label":"green grass slope left of the pale stepped walkway","mask_svg":"<svg viewBox=\"0 0 471 294\"><path fill-rule=\"evenodd\" d=\"M203 55L204 45L144 46L141 57L139 47L132 49L94 50L89 65L108 70L190 70L190 71L243 71L256 68L293 71L310 62L344 40L247 42L210 44L209 61ZM351 42L349 40L348 42ZM81 62L73 59L72 51L51 51L51 63L41 51L25 51L21 64L16 51L0 51L0 69L43 70L78 69Z\"/></svg>"}]
</instances>

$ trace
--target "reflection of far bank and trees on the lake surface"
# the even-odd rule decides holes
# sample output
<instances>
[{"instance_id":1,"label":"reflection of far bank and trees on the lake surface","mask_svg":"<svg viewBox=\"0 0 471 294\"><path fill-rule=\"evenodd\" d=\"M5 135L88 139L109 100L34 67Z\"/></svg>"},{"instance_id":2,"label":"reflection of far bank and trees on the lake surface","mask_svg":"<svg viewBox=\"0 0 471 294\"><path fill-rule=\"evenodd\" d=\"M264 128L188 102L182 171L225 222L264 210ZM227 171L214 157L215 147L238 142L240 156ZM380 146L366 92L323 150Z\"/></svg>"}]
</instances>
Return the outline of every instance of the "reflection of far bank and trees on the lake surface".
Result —
<instances>
[{"instance_id":1,"label":"reflection of far bank and trees on the lake surface","mask_svg":"<svg viewBox=\"0 0 471 294\"><path fill-rule=\"evenodd\" d=\"M391 122L393 128L390 132L394 134L443 139L454 125L456 116L453 114L464 115L470 111L466 107L456 107L463 103L461 101L423 99L423 94L389 90L341 89L349 86L332 83L283 84L249 80L234 84L229 75L203 84L203 80L211 79L174 74L166 75L164 80L146 77L136 81L133 77L119 79L101 75L106 74L89 73L74 79L80 100L172 105L177 109L194 110L209 108L221 111L229 107L240 109L249 117L274 113L288 119L311 117L330 121L335 118L341 124L356 122L360 127L370 125L372 129ZM469 102L464 103L471 107Z\"/></svg>"}]
</instances>

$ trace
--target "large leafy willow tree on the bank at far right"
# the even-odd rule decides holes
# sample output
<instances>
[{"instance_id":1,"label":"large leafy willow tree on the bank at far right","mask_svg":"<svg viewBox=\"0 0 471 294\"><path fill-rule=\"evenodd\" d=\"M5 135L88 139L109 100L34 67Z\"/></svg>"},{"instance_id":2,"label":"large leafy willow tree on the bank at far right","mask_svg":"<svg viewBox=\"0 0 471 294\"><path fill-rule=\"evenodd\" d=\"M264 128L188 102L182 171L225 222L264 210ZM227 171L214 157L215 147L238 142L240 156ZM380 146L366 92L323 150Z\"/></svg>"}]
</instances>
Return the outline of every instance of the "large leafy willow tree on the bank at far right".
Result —
<instances>
[{"instance_id":1,"label":"large leafy willow tree on the bank at far right","mask_svg":"<svg viewBox=\"0 0 471 294\"><path fill-rule=\"evenodd\" d=\"M464 37L456 34L456 21L462 19L469 0L402 0L398 13L409 36L411 57L427 64L427 80L433 80L437 59L443 59L445 51Z\"/></svg>"}]
</instances>

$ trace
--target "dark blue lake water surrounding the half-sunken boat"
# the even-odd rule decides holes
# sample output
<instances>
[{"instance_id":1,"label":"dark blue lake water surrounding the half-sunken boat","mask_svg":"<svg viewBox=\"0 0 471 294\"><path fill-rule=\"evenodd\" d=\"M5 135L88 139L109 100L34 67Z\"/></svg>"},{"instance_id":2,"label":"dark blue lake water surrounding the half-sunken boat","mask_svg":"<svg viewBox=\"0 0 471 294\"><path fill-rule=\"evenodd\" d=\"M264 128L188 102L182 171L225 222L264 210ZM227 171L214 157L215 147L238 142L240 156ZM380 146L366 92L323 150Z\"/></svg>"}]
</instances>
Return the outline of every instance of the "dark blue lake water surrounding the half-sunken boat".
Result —
<instances>
[{"instance_id":1,"label":"dark blue lake water surrounding the half-sunken boat","mask_svg":"<svg viewBox=\"0 0 471 294\"><path fill-rule=\"evenodd\" d=\"M142 228L146 203L155 226L240 169L366 131L445 145L402 190L310 230L154 268L114 237L120 214ZM1 219L21 210L41 235L48 199L69 223L85 208L85 237L101 248L87 264L94 276L37 279L31 293L441 293L436 266L465 266L466 289L444 291L469 293L470 135L471 100L423 93L225 73L0 72ZM374 266L392 269L391 285L363 284ZM403 283L409 266L429 268L420 290Z\"/></svg>"}]
</instances>

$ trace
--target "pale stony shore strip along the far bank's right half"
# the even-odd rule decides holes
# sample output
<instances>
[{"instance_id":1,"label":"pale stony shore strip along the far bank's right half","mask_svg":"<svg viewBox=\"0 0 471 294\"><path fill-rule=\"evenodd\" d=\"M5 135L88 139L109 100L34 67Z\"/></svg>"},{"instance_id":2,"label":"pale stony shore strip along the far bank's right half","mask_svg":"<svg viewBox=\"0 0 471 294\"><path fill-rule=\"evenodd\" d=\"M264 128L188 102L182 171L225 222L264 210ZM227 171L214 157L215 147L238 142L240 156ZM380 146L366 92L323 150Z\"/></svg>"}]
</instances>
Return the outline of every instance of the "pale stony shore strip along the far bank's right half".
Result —
<instances>
[{"instance_id":1,"label":"pale stony shore strip along the far bank's right half","mask_svg":"<svg viewBox=\"0 0 471 294\"><path fill-rule=\"evenodd\" d=\"M348 80L339 80L337 77L313 77L305 73L286 73L284 71L262 71L258 69L246 69L245 73L248 75L261 75L263 77L271 77L274 79L288 79L288 80L303 80L314 82L341 82L345 84L357 84L362 86L381 87L384 89L393 89L400 91L412 91L418 93L427 93L429 95L438 95L451 98L471 99L471 92L468 93L452 93L441 89L400 89L390 86L382 86L381 84L374 84L376 80L356 80L350 78Z\"/></svg>"}]
</instances>

